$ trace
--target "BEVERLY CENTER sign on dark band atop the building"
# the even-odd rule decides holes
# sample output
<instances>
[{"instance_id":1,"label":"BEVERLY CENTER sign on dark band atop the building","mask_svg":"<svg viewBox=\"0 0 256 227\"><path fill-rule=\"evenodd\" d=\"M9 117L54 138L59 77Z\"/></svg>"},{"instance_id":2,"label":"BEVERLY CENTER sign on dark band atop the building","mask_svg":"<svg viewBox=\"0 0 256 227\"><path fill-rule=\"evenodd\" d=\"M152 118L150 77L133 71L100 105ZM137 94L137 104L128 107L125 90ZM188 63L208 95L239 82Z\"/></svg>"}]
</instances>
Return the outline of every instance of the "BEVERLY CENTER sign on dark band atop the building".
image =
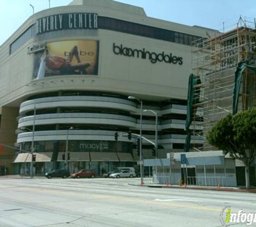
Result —
<instances>
[{"instance_id":1,"label":"BEVERLY CENTER sign on dark band atop the building","mask_svg":"<svg viewBox=\"0 0 256 227\"><path fill-rule=\"evenodd\" d=\"M43 17L36 22L36 33L67 29L98 29L96 13L65 13Z\"/></svg>"}]
</instances>

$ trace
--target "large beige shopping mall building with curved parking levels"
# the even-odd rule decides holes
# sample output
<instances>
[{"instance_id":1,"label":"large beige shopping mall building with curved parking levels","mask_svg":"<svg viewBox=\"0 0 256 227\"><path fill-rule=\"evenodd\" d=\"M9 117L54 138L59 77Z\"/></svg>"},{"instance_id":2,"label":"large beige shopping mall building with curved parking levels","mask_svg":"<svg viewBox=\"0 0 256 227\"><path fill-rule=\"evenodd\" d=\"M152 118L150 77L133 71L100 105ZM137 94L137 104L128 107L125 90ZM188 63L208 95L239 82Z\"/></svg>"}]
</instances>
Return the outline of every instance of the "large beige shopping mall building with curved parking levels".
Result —
<instances>
[{"instance_id":1,"label":"large beige shopping mall building with curved parking levels","mask_svg":"<svg viewBox=\"0 0 256 227\"><path fill-rule=\"evenodd\" d=\"M112 0L32 15L0 47L0 174L29 174L31 150L36 174L64 167L63 154L72 172L134 166L141 104L157 158L182 151L191 42L212 32ZM153 148L143 140L143 158Z\"/></svg>"}]
</instances>

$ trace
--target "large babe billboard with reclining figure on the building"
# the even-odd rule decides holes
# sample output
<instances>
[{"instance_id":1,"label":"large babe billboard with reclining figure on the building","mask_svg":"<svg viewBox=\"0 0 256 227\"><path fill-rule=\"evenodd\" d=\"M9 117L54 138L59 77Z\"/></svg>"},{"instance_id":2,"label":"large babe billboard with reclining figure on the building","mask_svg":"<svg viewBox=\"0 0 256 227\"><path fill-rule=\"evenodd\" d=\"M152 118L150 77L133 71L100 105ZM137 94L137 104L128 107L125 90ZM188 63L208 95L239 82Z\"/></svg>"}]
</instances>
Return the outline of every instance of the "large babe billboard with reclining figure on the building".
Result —
<instances>
[{"instance_id":1,"label":"large babe billboard with reclining figure on the building","mask_svg":"<svg viewBox=\"0 0 256 227\"><path fill-rule=\"evenodd\" d=\"M99 41L49 42L35 54L33 79L58 75L98 75Z\"/></svg>"}]
</instances>

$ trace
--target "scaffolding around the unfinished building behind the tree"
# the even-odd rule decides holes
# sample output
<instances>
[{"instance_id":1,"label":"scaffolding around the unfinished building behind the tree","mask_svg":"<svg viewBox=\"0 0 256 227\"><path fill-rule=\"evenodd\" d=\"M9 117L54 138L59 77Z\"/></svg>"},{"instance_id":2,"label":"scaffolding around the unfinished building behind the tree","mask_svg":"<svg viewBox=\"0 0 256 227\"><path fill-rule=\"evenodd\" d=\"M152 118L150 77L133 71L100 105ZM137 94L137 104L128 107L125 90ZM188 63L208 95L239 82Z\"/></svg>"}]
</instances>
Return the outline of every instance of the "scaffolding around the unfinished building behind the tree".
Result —
<instances>
[{"instance_id":1,"label":"scaffolding around the unfinished building behind the tree","mask_svg":"<svg viewBox=\"0 0 256 227\"><path fill-rule=\"evenodd\" d=\"M206 134L219 119L232 114L235 72L238 63L256 66L256 23L240 17L230 31L193 41L192 73L200 83L193 90L199 101L192 104L190 133L202 144L191 144L195 150L213 150ZM256 73L246 69L239 90L238 111L256 106Z\"/></svg>"}]
</instances>

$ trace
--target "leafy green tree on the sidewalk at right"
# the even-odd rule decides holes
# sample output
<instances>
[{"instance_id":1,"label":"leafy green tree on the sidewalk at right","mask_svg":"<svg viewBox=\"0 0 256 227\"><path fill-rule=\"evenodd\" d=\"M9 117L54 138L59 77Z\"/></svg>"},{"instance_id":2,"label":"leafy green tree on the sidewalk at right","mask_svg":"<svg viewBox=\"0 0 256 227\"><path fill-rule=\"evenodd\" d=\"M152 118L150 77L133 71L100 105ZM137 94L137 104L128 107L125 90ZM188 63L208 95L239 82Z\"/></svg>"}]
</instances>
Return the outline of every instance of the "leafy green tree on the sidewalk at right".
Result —
<instances>
[{"instance_id":1,"label":"leafy green tree on the sidewalk at right","mask_svg":"<svg viewBox=\"0 0 256 227\"><path fill-rule=\"evenodd\" d=\"M244 162L246 189L250 188L250 166L256 156L255 135L256 108L251 108L220 119L206 136L209 144Z\"/></svg>"}]
</instances>

